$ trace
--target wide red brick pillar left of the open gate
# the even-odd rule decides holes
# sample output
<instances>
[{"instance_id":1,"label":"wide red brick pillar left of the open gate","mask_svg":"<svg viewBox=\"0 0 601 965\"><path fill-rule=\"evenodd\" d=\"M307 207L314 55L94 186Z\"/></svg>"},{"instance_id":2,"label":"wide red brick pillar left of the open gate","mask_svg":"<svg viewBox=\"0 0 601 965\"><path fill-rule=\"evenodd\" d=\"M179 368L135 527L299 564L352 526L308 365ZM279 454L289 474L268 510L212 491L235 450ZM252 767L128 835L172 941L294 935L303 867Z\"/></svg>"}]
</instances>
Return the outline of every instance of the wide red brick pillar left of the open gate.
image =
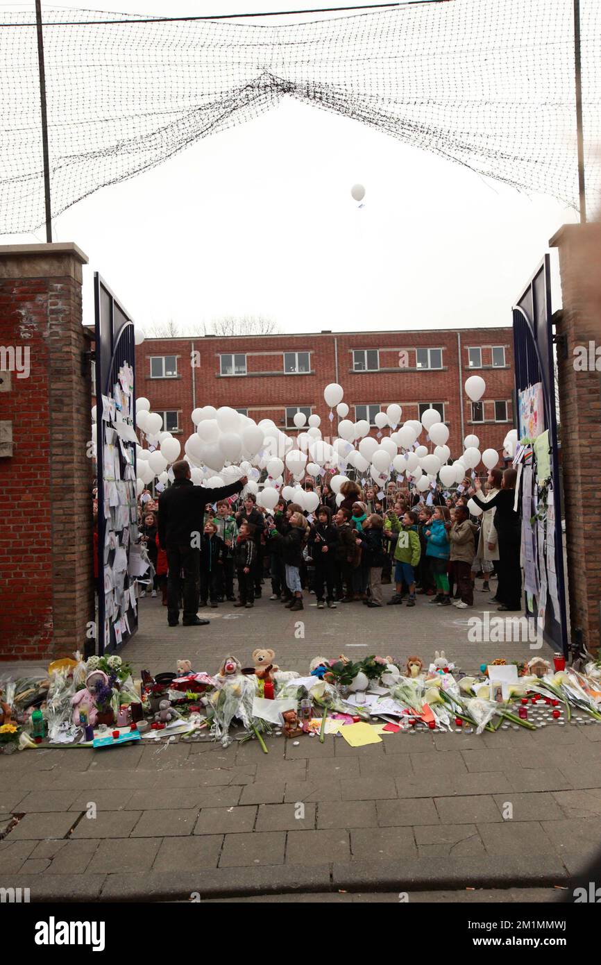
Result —
<instances>
[{"instance_id":1,"label":"wide red brick pillar left of the open gate","mask_svg":"<svg viewBox=\"0 0 601 965\"><path fill-rule=\"evenodd\" d=\"M0 246L0 660L83 649L94 620L87 261Z\"/></svg>"}]
</instances>

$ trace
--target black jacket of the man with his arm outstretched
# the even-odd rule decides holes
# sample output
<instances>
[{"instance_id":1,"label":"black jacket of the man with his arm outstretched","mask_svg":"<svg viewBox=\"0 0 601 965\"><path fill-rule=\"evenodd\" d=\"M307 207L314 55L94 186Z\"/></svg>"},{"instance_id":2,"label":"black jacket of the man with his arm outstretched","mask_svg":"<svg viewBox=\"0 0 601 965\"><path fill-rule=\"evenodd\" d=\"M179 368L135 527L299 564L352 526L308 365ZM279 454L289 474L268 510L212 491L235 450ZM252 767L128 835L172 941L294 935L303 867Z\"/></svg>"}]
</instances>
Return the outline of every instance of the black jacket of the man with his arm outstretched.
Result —
<instances>
[{"instance_id":1,"label":"black jacket of the man with his arm outstretched","mask_svg":"<svg viewBox=\"0 0 601 965\"><path fill-rule=\"evenodd\" d=\"M192 480L176 480L158 500L158 540L161 549L189 546L193 533L202 533L207 503L241 492L240 482L205 489Z\"/></svg>"}]
</instances>

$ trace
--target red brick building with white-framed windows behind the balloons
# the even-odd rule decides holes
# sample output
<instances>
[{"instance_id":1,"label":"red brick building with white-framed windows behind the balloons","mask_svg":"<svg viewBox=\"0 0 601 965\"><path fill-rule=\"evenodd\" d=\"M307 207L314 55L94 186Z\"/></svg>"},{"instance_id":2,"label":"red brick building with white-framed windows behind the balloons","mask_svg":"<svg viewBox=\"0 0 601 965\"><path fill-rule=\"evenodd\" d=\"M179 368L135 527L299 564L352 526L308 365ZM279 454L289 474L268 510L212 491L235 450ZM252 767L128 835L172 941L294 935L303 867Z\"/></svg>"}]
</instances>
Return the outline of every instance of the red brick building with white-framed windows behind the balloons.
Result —
<instances>
[{"instance_id":1,"label":"red brick building with white-framed windows behind the balloons","mask_svg":"<svg viewBox=\"0 0 601 965\"><path fill-rule=\"evenodd\" d=\"M464 384L470 374L486 382L484 398L472 403ZM306 335L200 336L146 339L136 349L136 395L150 400L163 427L182 441L194 430L197 406L231 405L260 422L296 434L295 412L321 418L329 432L323 389L339 382L348 418L369 419L391 402L402 419L420 419L433 405L450 429L453 457L466 435L480 450L503 452L513 427L513 343L507 328L403 332L321 332ZM373 431L377 431L375 428Z\"/></svg>"}]
</instances>

